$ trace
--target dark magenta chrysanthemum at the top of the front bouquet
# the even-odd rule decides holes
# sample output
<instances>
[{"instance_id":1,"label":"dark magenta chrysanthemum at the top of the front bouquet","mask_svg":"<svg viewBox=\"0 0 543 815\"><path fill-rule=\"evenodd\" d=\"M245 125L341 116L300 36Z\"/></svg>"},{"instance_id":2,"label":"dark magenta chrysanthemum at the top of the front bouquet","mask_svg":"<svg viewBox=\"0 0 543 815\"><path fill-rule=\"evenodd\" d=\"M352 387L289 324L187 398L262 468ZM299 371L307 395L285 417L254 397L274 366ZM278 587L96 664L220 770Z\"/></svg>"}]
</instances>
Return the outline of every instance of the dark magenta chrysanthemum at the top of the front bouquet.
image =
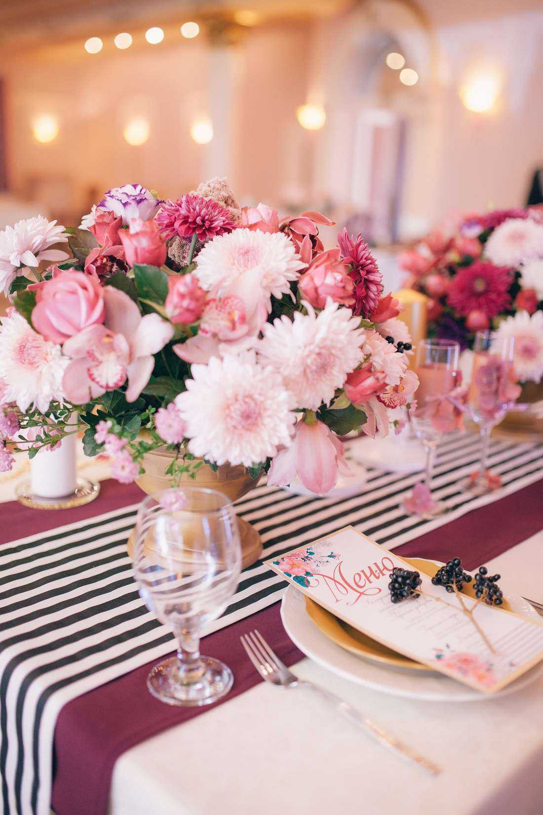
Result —
<instances>
[{"instance_id":1,"label":"dark magenta chrysanthemum at the top of the front bouquet","mask_svg":"<svg viewBox=\"0 0 543 815\"><path fill-rule=\"evenodd\" d=\"M163 201L156 222L166 240L176 235L180 238L197 235L203 243L236 227L226 209L215 201L191 195Z\"/></svg>"}]
</instances>

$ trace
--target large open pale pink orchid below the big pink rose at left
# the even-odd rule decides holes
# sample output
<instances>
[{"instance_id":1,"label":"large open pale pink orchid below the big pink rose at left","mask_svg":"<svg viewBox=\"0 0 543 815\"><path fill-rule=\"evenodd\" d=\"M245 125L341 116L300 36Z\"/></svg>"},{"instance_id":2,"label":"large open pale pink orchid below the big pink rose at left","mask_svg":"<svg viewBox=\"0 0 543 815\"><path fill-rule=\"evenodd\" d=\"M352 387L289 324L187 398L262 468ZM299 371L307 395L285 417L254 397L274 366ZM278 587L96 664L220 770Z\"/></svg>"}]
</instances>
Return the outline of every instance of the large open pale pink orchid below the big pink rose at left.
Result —
<instances>
[{"instance_id":1,"label":"large open pale pink orchid below the big pink rose at left","mask_svg":"<svg viewBox=\"0 0 543 815\"><path fill-rule=\"evenodd\" d=\"M84 328L64 343L72 359L63 377L63 391L74 404L96 399L128 379L126 400L134 402L147 385L157 354L173 337L173 325L157 314L144 317L124 292L103 289L103 325Z\"/></svg>"}]
</instances>

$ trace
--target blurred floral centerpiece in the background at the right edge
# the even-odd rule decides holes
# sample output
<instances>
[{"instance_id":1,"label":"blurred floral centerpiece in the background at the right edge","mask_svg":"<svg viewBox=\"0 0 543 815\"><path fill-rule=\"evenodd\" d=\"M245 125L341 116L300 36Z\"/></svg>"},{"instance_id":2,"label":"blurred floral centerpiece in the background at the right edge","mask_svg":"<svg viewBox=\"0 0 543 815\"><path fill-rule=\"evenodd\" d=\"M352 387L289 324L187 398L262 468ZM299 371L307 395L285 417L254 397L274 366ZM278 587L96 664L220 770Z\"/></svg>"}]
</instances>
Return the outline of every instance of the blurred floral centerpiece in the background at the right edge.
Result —
<instances>
[{"instance_id":1,"label":"blurred floral centerpiece in the background at the right edge","mask_svg":"<svg viewBox=\"0 0 543 815\"><path fill-rule=\"evenodd\" d=\"M453 216L401 256L430 297L430 336L471 347L486 328L515 337L519 381L543 376L543 218L536 208Z\"/></svg>"}]
</instances>

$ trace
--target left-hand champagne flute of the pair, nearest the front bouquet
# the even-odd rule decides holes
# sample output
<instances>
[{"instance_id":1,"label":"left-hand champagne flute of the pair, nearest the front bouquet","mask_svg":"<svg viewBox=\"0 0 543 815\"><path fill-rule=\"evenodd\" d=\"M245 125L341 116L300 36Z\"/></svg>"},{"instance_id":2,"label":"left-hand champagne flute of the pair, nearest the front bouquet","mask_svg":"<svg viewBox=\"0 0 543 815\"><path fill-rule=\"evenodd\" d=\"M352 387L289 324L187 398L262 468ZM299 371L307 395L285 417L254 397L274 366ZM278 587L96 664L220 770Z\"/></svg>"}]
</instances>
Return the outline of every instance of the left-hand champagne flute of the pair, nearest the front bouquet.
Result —
<instances>
[{"instance_id":1,"label":"left-hand champagne flute of the pair, nearest the front bouquet","mask_svg":"<svg viewBox=\"0 0 543 815\"><path fill-rule=\"evenodd\" d=\"M423 443L426 453L424 481L428 492L431 492L436 450L441 435L446 430L453 430L453 405L445 397L452 394L458 386L459 355L460 346L452 340L427 339L417 346L415 370L419 385L414 394L417 410L411 416L411 422L414 434ZM440 515L445 511L444 504L432 501L425 506L423 515Z\"/></svg>"}]
</instances>

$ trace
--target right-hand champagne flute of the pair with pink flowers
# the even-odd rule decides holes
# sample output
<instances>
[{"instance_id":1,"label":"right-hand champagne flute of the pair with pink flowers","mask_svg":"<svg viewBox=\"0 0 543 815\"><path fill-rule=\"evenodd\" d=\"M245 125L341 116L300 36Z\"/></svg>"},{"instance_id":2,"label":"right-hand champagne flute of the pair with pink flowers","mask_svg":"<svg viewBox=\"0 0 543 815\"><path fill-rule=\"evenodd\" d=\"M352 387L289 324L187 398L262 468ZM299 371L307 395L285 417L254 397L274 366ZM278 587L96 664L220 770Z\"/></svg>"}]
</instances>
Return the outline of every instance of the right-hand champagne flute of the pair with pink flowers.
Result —
<instances>
[{"instance_id":1,"label":"right-hand champagne flute of the pair with pink flowers","mask_svg":"<svg viewBox=\"0 0 543 815\"><path fill-rule=\"evenodd\" d=\"M519 398L520 388L515 385L513 368L514 351L515 337L502 337L493 331L475 334L467 404L471 418L479 428L480 464L479 469L462 482L462 488L475 491L477 495L493 488L487 469L493 427L501 422Z\"/></svg>"}]
</instances>

